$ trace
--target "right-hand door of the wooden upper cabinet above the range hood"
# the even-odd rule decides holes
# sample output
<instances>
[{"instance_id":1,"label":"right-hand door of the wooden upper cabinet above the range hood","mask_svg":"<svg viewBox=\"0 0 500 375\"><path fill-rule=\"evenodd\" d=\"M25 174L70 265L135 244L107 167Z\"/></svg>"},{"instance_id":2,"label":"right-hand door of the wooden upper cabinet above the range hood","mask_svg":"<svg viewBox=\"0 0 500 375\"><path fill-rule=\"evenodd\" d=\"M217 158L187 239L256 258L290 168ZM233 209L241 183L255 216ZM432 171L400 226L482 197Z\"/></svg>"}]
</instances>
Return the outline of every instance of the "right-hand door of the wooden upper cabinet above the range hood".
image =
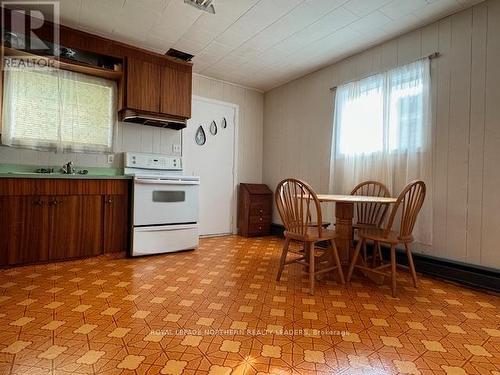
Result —
<instances>
[{"instance_id":1,"label":"right-hand door of the wooden upper cabinet above the range hood","mask_svg":"<svg viewBox=\"0 0 500 375\"><path fill-rule=\"evenodd\" d=\"M192 72L161 67L160 112L182 118L191 117Z\"/></svg>"}]
</instances>

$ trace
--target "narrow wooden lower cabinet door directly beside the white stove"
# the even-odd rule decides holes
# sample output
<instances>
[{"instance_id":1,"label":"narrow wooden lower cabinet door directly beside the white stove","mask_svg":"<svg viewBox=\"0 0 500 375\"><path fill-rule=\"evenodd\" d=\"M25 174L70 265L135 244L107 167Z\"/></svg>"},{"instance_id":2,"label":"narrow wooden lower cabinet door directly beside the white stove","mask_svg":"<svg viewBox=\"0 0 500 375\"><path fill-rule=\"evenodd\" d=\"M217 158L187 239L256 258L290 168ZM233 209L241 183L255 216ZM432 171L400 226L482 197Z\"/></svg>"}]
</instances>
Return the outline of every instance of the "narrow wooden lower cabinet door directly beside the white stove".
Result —
<instances>
[{"instance_id":1,"label":"narrow wooden lower cabinet door directly beside the white stove","mask_svg":"<svg viewBox=\"0 0 500 375\"><path fill-rule=\"evenodd\" d=\"M126 195L104 197L104 254L128 249L130 237L128 202Z\"/></svg>"}]
</instances>

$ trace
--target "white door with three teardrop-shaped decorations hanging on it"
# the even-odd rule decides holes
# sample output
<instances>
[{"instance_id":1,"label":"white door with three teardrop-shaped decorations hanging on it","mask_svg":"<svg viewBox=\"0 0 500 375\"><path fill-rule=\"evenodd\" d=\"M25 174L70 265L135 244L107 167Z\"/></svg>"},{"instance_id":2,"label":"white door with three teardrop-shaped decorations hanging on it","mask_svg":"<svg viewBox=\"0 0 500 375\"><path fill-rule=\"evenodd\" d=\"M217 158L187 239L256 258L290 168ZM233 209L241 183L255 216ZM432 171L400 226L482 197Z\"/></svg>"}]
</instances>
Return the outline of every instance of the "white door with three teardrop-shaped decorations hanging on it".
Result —
<instances>
[{"instance_id":1,"label":"white door with three teardrop-shaped decorations hanging on it","mask_svg":"<svg viewBox=\"0 0 500 375\"><path fill-rule=\"evenodd\" d=\"M232 233L235 118L234 106L195 98L182 133L184 173L200 176L200 235ZM200 126L204 145L195 140Z\"/></svg>"}]
</instances>

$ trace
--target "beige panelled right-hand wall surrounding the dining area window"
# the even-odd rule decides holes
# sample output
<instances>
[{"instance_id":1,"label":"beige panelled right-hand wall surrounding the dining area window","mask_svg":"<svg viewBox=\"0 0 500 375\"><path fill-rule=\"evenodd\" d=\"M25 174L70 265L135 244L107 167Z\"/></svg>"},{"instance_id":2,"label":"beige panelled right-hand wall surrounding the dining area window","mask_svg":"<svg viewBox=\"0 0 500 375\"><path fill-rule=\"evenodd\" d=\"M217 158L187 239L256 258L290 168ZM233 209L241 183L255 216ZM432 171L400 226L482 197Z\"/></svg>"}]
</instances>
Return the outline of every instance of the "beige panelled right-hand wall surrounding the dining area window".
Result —
<instances>
[{"instance_id":1,"label":"beige panelled right-hand wall surrounding the dining area window","mask_svg":"<svg viewBox=\"0 0 500 375\"><path fill-rule=\"evenodd\" d=\"M328 89L435 51L441 57L431 64L434 241L432 249L421 251L500 268L500 0L266 93L263 182L274 187L294 176L328 191L333 117Z\"/></svg>"}]
</instances>

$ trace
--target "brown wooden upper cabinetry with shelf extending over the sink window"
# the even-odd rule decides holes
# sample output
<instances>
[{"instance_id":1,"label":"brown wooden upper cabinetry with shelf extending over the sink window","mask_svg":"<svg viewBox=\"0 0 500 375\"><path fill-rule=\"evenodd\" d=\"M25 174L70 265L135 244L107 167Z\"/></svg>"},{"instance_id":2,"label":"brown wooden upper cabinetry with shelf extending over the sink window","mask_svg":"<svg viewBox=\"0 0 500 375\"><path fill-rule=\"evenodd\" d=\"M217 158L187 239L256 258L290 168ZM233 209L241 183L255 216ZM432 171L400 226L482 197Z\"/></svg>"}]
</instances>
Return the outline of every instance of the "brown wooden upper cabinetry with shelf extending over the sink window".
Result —
<instances>
[{"instance_id":1,"label":"brown wooden upper cabinetry with shelf extending over the sink window","mask_svg":"<svg viewBox=\"0 0 500 375\"><path fill-rule=\"evenodd\" d=\"M5 9L5 12L8 15L6 20L10 20L10 10ZM29 24L28 20L26 24ZM9 31L10 24L5 26ZM124 74L120 70L92 70L85 64L72 64L75 67L80 66L79 69L85 67L87 73L91 75L104 75L119 81L118 110L131 109L182 119L191 117L191 63L67 26L58 25L58 28L60 29L59 42L62 46L116 59L118 64L124 64ZM44 22L42 27L37 29L37 35L46 41L51 41L53 29L50 27L50 22ZM0 108L1 104L0 95Z\"/></svg>"}]
</instances>

